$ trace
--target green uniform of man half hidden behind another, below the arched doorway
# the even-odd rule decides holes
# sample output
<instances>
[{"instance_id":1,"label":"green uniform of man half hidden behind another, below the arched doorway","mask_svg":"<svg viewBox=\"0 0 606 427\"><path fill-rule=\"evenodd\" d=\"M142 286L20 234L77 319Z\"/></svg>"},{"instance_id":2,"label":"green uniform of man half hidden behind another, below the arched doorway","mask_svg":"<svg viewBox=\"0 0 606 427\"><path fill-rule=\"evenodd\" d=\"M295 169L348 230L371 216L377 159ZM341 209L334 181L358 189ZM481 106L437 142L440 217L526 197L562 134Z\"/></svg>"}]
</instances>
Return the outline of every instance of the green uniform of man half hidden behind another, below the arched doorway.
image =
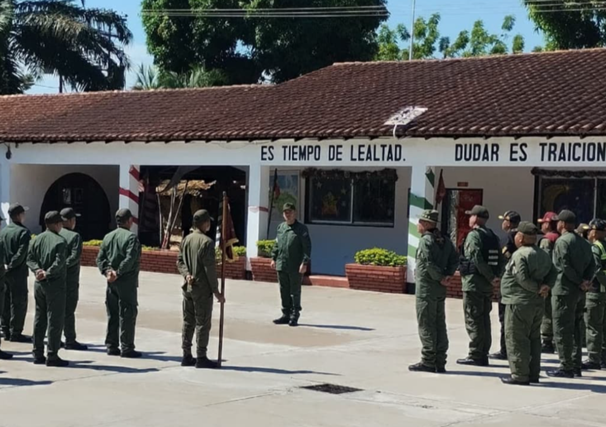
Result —
<instances>
[{"instance_id":1,"label":"green uniform of man half hidden behind another, below the arched doorway","mask_svg":"<svg viewBox=\"0 0 606 427\"><path fill-rule=\"evenodd\" d=\"M67 290L65 296L65 344L76 342L76 306L78 306L80 289L80 257L82 255L82 238L75 231L62 228L61 237L67 242Z\"/></svg>"}]
</instances>

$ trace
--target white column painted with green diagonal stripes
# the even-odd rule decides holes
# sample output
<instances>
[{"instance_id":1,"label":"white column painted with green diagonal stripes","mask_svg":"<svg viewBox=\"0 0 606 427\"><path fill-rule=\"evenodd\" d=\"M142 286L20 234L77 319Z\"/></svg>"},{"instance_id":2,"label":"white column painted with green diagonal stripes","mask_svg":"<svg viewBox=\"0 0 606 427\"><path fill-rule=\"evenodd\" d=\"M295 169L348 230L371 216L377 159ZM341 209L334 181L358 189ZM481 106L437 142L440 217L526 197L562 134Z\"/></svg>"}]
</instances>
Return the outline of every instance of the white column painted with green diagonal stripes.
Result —
<instances>
[{"instance_id":1,"label":"white column painted with green diagonal stripes","mask_svg":"<svg viewBox=\"0 0 606 427\"><path fill-rule=\"evenodd\" d=\"M435 205L435 168L425 165L413 166L410 180L410 218L408 219L408 283L415 282L416 250L419 247L419 232L417 224L419 216L425 209L433 209Z\"/></svg>"}]
</instances>

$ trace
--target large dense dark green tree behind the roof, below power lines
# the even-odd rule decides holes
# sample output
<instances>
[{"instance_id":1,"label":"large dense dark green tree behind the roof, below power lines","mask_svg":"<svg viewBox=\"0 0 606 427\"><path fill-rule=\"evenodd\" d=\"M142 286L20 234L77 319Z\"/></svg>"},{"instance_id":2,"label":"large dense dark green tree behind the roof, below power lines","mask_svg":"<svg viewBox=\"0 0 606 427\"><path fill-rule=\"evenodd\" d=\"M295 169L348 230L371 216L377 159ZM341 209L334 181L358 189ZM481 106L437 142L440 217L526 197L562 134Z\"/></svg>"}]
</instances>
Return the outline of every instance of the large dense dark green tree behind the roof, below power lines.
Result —
<instances>
[{"instance_id":1,"label":"large dense dark green tree behind the roof, below power lines","mask_svg":"<svg viewBox=\"0 0 606 427\"><path fill-rule=\"evenodd\" d=\"M307 0L305 7L384 7L385 0ZM282 82L333 62L376 55L384 16L266 17L263 9L301 7L298 0L143 0L143 24L155 64L183 73L192 65L221 70L230 84ZM247 16L204 14L233 9ZM198 13L166 13L167 10ZM257 13L255 13L257 12Z\"/></svg>"}]
</instances>

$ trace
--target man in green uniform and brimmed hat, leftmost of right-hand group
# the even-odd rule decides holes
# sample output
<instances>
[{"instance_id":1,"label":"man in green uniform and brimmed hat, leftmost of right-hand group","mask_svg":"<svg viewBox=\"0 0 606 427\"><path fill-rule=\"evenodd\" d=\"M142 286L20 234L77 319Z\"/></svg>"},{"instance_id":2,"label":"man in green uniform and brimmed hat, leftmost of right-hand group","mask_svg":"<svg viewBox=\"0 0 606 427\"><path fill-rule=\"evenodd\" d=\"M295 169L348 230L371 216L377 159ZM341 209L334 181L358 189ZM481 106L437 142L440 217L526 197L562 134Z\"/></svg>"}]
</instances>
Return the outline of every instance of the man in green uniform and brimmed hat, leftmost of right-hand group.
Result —
<instances>
[{"instance_id":1,"label":"man in green uniform and brimmed hat, leftmost of right-hand group","mask_svg":"<svg viewBox=\"0 0 606 427\"><path fill-rule=\"evenodd\" d=\"M419 217L421 234L416 251L416 313L421 338L421 362L410 371L446 372L446 286L459 266L459 254L436 225L438 211L426 210Z\"/></svg>"}]
</instances>

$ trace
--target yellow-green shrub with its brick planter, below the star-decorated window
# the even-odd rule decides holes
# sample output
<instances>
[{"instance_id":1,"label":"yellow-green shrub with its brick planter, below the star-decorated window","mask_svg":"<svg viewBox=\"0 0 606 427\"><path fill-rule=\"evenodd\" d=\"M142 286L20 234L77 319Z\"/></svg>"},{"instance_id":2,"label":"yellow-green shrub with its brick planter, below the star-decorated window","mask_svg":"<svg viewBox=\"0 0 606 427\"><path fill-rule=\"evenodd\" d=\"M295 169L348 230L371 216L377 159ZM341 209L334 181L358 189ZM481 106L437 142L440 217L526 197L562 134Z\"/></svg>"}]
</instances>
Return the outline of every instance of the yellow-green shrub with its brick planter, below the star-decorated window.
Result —
<instances>
[{"instance_id":1,"label":"yellow-green shrub with its brick planter, below the star-decorated window","mask_svg":"<svg viewBox=\"0 0 606 427\"><path fill-rule=\"evenodd\" d=\"M358 251L355 263L345 265L351 289L362 291L406 292L406 257L387 249Z\"/></svg>"}]
</instances>

